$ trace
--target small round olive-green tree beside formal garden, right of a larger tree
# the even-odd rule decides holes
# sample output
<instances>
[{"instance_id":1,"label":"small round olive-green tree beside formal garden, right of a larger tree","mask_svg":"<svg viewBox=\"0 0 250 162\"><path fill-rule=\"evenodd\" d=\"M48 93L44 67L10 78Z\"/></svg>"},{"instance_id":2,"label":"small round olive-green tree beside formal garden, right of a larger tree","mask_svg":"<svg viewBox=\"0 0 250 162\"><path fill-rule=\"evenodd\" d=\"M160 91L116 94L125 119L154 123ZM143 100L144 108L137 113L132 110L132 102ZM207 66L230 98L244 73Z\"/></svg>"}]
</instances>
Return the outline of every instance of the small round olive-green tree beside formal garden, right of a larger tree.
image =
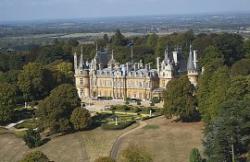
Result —
<instances>
[{"instance_id":1,"label":"small round olive-green tree beside formal garden, right of a larger tree","mask_svg":"<svg viewBox=\"0 0 250 162\"><path fill-rule=\"evenodd\" d=\"M91 120L90 113L87 109L76 108L70 116L70 122L73 124L75 130L86 128Z\"/></svg>"}]
</instances>

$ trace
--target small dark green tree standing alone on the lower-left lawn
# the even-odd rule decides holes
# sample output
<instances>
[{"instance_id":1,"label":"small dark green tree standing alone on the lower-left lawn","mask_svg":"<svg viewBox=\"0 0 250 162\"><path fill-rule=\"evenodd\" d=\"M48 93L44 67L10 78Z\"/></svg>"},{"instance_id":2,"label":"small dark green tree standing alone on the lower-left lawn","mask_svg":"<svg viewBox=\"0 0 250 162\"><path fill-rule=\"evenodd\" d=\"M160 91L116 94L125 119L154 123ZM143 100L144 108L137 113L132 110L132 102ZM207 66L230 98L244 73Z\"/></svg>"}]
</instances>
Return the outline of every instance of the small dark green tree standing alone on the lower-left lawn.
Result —
<instances>
[{"instance_id":1,"label":"small dark green tree standing alone on the lower-left lawn","mask_svg":"<svg viewBox=\"0 0 250 162\"><path fill-rule=\"evenodd\" d=\"M29 148L38 147L42 144L40 133L33 129L27 130L23 140Z\"/></svg>"}]
</instances>

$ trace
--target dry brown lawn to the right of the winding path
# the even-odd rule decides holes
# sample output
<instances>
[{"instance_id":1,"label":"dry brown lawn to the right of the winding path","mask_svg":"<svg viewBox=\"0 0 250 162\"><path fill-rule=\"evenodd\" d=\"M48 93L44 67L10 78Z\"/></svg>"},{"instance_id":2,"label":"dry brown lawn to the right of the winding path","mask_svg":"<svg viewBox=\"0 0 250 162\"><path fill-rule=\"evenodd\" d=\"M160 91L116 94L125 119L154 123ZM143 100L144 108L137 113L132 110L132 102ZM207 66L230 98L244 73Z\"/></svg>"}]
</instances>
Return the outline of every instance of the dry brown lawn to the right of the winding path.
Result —
<instances>
[{"instance_id":1,"label":"dry brown lawn to the right of the winding path","mask_svg":"<svg viewBox=\"0 0 250 162\"><path fill-rule=\"evenodd\" d=\"M129 144L144 146L154 159L154 162L187 162L192 148L201 149L202 123L176 123L158 117L146 121L148 123L128 136L123 141L118 152Z\"/></svg>"}]
</instances>

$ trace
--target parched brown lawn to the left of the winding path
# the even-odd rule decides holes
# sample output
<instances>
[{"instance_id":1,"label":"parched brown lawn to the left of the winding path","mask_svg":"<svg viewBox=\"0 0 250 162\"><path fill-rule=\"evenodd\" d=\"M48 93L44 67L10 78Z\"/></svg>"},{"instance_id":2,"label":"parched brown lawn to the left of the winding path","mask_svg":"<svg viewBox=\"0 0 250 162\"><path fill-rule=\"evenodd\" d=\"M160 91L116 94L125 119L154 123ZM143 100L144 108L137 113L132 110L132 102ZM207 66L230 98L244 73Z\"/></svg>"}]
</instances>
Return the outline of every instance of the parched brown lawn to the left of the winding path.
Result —
<instances>
[{"instance_id":1,"label":"parched brown lawn to the left of the winding path","mask_svg":"<svg viewBox=\"0 0 250 162\"><path fill-rule=\"evenodd\" d=\"M124 130L103 130L100 127L51 139L48 143L36 148L44 152L55 162L94 161L99 156L108 156L115 139L122 133L132 129L136 124ZM17 162L22 156L32 151L22 138L0 129L0 161ZM20 132L18 132L19 134Z\"/></svg>"}]
</instances>

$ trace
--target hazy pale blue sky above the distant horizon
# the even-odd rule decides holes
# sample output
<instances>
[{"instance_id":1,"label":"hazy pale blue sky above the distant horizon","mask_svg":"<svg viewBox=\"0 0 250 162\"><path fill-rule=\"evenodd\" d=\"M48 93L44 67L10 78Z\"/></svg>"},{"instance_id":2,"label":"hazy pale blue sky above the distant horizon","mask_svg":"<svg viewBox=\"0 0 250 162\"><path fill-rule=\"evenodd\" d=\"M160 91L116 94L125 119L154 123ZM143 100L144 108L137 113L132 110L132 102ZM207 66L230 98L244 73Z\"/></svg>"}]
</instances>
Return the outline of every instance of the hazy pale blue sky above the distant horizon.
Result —
<instances>
[{"instance_id":1,"label":"hazy pale blue sky above the distant horizon","mask_svg":"<svg viewBox=\"0 0 250 162\"><path fill-rule=\"evenodd\" d=\"M250 0L0 0L0 21L250 12Z\"/></svg>"}]
</instances>

